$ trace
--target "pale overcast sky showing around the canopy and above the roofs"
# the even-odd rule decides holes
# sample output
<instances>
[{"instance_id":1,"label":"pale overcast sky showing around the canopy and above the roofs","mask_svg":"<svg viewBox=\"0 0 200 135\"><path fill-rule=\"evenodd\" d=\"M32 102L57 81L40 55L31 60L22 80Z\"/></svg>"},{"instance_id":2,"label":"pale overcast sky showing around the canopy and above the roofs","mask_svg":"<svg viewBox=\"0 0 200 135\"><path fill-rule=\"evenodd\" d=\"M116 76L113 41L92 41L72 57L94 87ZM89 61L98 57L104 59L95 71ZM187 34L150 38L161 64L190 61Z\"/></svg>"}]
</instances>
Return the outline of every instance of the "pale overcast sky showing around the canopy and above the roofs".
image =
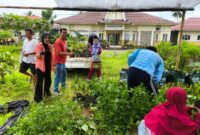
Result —
<instances>
[{"instance_id":1,"label":"pale overcast sky showing around the canopy and above the roofs","mask_svg":"<svg viewBox=\"0 0 200 135\"><path fill-rule=\"evenodd\" d=\"M54 0L0 0L1 5L9 5L9 6L15 6L15 5L20 5L20 6L25 6L25 5L31 5L31 6L45 6L45 7L53 7L56 5ZM29 10L29 9L6 9L6 8L0 8L0 14L3 13L14 13L18 15L26 15L28 11L32 11L34 15L40 16L41 15L41 10ZM57 16L57 19L61 19L64 17L76 15L77 11L54 11L54 14ZM148 12L151 15L155 15L158 17L162 17L165 19L169 19L172 21L176 21L172 17L172 12ZM195 7L194 11L188 11L186 14L186 18L190 17L200 17L200 5Z\"/></svg>"}]
</instances>

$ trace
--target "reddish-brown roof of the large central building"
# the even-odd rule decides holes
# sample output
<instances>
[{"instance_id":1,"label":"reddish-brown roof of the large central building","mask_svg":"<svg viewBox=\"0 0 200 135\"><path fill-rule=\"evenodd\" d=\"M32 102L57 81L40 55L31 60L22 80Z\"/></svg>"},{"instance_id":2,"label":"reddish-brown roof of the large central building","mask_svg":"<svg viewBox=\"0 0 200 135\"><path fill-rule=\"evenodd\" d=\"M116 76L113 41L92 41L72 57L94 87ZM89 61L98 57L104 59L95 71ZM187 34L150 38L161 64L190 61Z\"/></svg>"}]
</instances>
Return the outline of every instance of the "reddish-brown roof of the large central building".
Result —
<instances>
[{"instance_id":1,"label":"reddish-brown roof of the large central building","mask_svg":"<svg viewBox=\"0 0 200 135\"><path fill-rule=\"evenodd\" d=\"M152 16L142 12L125 13L124 20L104 20L106 12L85 12L75 16L63 18L55 21L58 24L97 24L97 23L123 23L123 24L145 24L145 25L175 25L174 22Z\"/></svg>"}]
</instances>

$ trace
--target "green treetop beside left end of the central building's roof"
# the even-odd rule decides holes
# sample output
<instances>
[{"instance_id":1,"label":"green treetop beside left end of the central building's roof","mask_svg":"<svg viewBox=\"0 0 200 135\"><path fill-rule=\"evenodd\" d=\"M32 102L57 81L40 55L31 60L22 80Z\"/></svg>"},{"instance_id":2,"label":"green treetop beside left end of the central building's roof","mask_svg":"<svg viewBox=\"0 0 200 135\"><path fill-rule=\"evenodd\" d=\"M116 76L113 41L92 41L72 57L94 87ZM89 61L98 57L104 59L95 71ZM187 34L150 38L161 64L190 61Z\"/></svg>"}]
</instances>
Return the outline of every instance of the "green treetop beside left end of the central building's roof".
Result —
<instances>
[{"instance_id":1,"label":"green treetop beside left end of the central building's roof","mask_svg":"<svg viewBox=\"0 0 200 135\"><path fill-rule=\"evenodd\" d=\"M56 18L56 15L53 15L52 9L43 10L41 14L42 14L43 19L48 20L51 24L54 23L54 19Z\"/></svg>"}]
</instances>

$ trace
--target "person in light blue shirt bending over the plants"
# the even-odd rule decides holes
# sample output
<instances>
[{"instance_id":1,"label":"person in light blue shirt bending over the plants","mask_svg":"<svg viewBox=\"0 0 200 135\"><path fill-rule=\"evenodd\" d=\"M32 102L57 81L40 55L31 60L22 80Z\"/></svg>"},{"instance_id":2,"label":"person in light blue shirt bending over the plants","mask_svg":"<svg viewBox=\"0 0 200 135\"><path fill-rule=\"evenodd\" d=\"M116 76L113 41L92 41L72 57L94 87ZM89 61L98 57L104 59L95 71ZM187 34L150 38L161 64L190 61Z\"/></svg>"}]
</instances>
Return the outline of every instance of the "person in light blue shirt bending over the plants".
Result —
<instances>
[{"instance_id":1,"label":"person in light blue shirt bending over the plants","mask_svg":"<svg viewBox=\"0 0 200 135\"><path fill-rule=\"evenodd\" d=\"M164 72L164 62L155 47L137 49L128 56L128 89L143 84L146 89L158 94L157 84Z\"/></svg>"}]
</instances>

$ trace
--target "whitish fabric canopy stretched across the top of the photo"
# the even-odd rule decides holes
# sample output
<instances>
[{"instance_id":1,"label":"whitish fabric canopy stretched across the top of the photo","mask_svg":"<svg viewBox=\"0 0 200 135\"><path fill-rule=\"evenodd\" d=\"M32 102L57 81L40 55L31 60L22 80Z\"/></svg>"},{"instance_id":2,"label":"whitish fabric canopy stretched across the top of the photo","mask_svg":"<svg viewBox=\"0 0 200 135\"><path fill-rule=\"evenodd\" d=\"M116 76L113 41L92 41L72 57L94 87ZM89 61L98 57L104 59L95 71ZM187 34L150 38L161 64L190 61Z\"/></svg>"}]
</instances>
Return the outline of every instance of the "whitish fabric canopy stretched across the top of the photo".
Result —
<instances>
[{"instance_id":1,"label":"whitish fabric canopy stretched across the top of the photo","mask_svg":"<svg viewBox=\"0 0 200 135\"><path fill-rule=\"evenodd\" d=\"M57 7L88 10L193 9L200 0L55 0Z\"/></svg>"}]
</instances>

